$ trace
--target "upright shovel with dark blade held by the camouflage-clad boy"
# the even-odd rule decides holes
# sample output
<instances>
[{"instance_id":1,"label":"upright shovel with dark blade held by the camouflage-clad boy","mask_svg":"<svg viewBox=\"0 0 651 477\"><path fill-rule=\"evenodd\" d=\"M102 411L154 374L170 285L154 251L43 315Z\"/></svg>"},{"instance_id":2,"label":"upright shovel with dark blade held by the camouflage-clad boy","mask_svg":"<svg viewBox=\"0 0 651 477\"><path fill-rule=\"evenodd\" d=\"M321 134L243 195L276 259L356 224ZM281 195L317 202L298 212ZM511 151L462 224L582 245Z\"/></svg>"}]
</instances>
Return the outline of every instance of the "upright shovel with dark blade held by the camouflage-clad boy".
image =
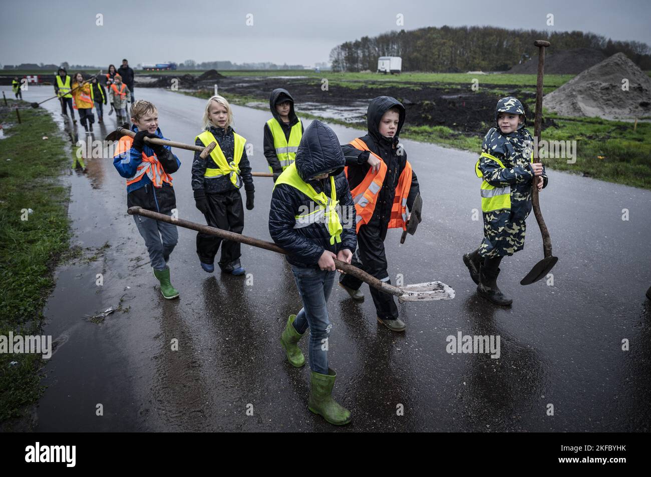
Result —
<instances>
[{"instance_id":1,"label":"upright shovel with dark blade held by the camouflage-clad boy","mask_svg":"<svg viewBox=\"0 0 651 477\"><path fill-rule=\"evenodd\" d=\"M536 40L533 42L534 45L538 47L538 79L536 81L536 116L534 118L534 129L533 134L536 138L536 141L540 140L540 129L542 126L542 77L544 74L545 68L545 48L549 46L549 42L543 40ZM538 148L534 148L534 158L536 161L540 162L538 159ZM538 176L534 177L534 181L531 185L531 202L533 203L533 213L536 216L536 221L538 222L538 227L540 227L540 234L542 235L542 250L544 252L544 259L536 263L531 269L531 272L527 274L520 281L520 285L531 285L542 277L547 276L549 270L559 261L558 257L551 255L551 237L549 237L549 230L545 224L544 218L542 218L542 212L540 212L540 201L538 200Z\"/></svg>"}]
</instances>

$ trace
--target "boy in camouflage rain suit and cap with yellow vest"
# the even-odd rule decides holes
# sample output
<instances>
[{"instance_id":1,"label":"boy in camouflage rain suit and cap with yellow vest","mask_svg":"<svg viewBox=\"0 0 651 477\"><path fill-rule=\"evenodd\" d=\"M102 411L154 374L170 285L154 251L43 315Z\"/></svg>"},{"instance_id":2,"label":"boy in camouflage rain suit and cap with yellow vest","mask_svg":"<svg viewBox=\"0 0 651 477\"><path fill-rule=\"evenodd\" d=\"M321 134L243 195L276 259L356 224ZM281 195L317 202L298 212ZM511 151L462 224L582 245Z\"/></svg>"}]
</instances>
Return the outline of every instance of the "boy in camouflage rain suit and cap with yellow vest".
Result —
<instances>
[{"instance_id":1,"label":"boy in camouflage rain suit and cap with yellow vest","mask_svg":"<svg viewBox=\"0 0 651 477\"><path fill-rule=\"evenodd\" d=\"M478 294L505 306L513 300L497 286L499 264L503 257L524 248L534 179L538 190L547 187L544 166L532 162L533 136L525 125L525 110L517 98L497 101L495 126L484 136L482 154L475 164L475 174L483 179L484 239L477 250L464 255Z\"/></svg>"}]
</instances>

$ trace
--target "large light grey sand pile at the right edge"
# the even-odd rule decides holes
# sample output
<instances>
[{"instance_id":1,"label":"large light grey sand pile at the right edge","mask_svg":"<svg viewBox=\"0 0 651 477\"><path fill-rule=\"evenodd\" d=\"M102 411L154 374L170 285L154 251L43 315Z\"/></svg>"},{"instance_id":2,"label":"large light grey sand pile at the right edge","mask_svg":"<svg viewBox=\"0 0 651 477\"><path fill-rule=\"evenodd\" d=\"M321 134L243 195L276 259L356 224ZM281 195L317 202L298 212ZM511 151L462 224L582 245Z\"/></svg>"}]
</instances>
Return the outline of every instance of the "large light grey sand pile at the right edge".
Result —
<instances>
[{"instance_id":1,"label":"large light grey sand pile at the right edge","mask_svg":"<svg viewBox=\"0 0 651 477\"><path fill-rule=\"evenodd\" d=\"M628 91L622 90L623 79L628 79ZM609 120L649 116L651 78L624 53L616 53L547 94L543 105L562 116Z\"/></svg>"}]
</instances>

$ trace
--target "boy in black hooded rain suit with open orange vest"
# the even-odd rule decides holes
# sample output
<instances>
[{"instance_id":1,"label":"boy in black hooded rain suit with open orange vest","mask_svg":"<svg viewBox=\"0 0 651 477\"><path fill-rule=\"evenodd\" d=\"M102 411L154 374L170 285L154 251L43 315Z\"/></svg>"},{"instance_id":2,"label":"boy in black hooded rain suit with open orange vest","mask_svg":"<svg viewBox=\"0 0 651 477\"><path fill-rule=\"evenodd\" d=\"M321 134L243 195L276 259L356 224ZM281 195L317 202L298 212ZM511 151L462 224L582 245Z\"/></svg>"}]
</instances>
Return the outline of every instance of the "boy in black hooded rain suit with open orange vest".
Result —
<instances>
[{"instance_id":1,"label":"boy in black hooded rain suit with open orange vest","mask_svg":"<svg viewBox=\"0 0 651 477\"><path fill-rule=\"evenodd\" d=\"M406 228L420 190L407 153L399 144L405 116L405 108L397 99L376 97L368 105L368 134L342 146L357 211L357 250L352 263L386 283L391 283L384 250L387 229ZM350 275L339 278L339 285L357 301L364 300L359 290L362 283ZM404 331L406 324L398 316L393 295L374 288L370 293L378 321L393 331Z\"/></svg>"}]
</instances>

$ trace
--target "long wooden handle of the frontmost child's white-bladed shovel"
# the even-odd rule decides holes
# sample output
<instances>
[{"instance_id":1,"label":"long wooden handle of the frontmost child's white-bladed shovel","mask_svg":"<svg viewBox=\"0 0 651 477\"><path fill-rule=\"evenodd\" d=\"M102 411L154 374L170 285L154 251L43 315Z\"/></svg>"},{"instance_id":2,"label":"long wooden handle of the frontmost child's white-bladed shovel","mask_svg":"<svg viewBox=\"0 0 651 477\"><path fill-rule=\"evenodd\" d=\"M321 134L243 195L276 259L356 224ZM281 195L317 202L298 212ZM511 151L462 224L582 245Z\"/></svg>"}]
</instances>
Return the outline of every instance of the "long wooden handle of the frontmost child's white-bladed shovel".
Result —
<instances>
[{"instance_id":1,"label":"long wooden handle of the frontmost child's white-bladed shovel","mask_svg":"<svg viewBox=\"0 0 651 477\"><path fill-rule=\"evenodd\" d=\"M159 214L158 212L143 209L142 207L129 207L127 213L131 215L142 215L144 217L158 220L159 222L167 222L168 224L185 227L186 229L196 230L197 232L207 233L208 235L216 235L217 237L221 237L221 239L233 240L234 242L240 242L242 244L264 248L265 250L271 250L275 251L276 253L283 253L284 255L288 255L287 251L283 250L276 244L266 242L265 240L254 239L253 237L247 237L246 235L242 235L240 233L217 229L216 227L204 226L203 224L197 224L197 222L190 222L189 220L184 220L182 218L173 218L166 214ZM376 277L370 276L367 274L367 272L357 268L356 266L339 261L337 259L334 260L337 269L342 270L343 272L350 274L365 283L368 283L368 285L371 287L395 296L401 296L404 294L402 289L399 287L389 285L389 283L384 283L383 281L378 280Z\"/></svg>"}]
</instances>

